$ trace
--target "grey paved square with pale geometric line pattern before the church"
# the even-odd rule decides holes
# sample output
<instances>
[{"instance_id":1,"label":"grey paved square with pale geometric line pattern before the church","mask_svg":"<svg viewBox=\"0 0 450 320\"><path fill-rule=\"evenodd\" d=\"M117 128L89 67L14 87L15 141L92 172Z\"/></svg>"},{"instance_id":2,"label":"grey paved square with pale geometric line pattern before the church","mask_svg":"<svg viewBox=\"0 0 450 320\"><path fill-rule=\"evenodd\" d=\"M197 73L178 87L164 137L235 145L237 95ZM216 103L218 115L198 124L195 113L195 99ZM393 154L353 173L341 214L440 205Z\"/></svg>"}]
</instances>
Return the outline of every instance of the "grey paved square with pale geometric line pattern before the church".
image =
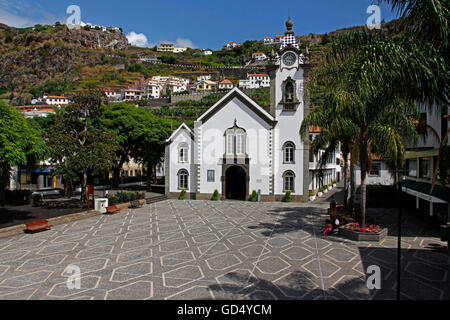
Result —
<instances>
[{"instance_id":1,"label":"grey paved square with pale geometric line pattern before the church","mask_svg":"<svg viewBox=\"0 0 450 320\"><path fill-rule=\"evenodd\" d=\"M394 299L395 234L323 238L326 205L167 200L0 239L0 299ZM395 228L394 211L370 213ZM402 298L450 299L445 243L413 220L405 236Z\"/></svg>"}]
</instances>

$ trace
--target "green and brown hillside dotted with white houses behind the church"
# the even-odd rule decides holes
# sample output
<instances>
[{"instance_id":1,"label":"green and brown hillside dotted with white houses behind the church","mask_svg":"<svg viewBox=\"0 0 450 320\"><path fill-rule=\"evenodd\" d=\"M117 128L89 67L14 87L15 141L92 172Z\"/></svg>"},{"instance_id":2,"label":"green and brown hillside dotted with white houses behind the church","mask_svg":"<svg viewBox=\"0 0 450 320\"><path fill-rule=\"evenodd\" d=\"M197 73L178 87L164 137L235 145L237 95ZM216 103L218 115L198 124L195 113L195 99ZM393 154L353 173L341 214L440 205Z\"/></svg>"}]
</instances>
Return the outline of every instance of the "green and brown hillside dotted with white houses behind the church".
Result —
<instances>
[{"instance_id":1,"label":"green and brown hillside dotted with white houses behind the church","mask_svg":"<svg viewBox=\"0 0 450 320\"><path fill-rule=\"evenodd\" d=\"M383 28L398 31L395 26L394 21ZM316 63L330 38L353 29L297 36L303 58ZM0 25L0 98L15 106L42 105L41 101L46 105L48 96L70 99L79 91L100 88L113 102L138 103L234 87L263 89L268 87L266 63L282 40L282 35L243 43L231 40L220 50L174 44L138 48L129 45L118 27Z\"/></svg>"}]
</instances>

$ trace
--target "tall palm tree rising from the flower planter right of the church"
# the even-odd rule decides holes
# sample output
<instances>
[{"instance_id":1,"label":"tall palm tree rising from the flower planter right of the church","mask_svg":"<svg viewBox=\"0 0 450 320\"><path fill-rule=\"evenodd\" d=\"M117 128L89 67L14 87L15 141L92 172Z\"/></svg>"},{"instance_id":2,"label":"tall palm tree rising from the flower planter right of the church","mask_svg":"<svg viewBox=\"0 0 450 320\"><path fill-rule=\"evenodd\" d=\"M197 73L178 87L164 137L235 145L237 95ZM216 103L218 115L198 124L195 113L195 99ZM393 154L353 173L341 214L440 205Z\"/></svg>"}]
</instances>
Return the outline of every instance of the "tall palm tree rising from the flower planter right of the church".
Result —
<instances>
[{"instance_id":1,"label":"tall palm tree rising from the flower planter right of the church","mask_svg":"<svg viewBox=\"0 0 450 320\"><path fill-rule=\"evenodd\" d=\"M328 94L321 109L313 109L306 117L303 133L309 124L324 126L324 132L335 139L342 132L351 133L352 156L361 166L362 225L371 155L403 157L404 138L417 136L414 101L445 99L445 70L444 60L432 46L404 37L388 38L382 32L340 36L315 70L314 78L325 85ZM330 116L334 119L326 120Z\"/></svg>"}]
</instances>

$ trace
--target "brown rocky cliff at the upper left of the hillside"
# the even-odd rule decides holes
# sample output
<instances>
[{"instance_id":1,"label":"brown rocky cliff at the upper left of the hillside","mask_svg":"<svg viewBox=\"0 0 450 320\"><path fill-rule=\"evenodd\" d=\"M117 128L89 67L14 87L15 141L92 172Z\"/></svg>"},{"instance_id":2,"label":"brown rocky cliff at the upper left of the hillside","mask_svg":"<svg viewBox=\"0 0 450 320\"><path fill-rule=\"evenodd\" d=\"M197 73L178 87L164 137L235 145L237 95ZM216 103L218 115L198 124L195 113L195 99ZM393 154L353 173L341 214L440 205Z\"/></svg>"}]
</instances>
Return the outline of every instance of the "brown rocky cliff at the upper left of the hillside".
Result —
<instances>
[{"instance_id":1,"label":"brown rocky cliff at the upper left of the hillside","mask_svg":"<svg viewBox=\"0 0 450 320\"><path fill-rule=\"evenodd\" d=\"M0 87L23 92L44 81L77 77L77 68L96 64L105 50L122 50L121 31L69 30L64 25L15 29L0 24Z\"/></svg>"}]
</instances>

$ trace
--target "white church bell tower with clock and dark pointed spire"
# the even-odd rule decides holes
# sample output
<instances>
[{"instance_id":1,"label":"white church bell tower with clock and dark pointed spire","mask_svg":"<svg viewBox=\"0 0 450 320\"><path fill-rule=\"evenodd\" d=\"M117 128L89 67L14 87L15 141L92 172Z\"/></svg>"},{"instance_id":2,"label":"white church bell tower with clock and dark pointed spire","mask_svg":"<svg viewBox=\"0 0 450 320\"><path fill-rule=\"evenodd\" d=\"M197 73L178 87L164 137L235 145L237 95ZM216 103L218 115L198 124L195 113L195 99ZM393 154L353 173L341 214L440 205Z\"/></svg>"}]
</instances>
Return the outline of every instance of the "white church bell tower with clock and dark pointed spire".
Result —
<instances>
[{"instance_id":1,"label":"white church bell tower with clock and dark pointed spire","mask_svg":"<svg viewBox=\"0 0 450 320\"><path fill-rule=\"evenodd\" d=\"M295 38L293 26L294 22L289 19L280 50L268 70L270 111L277 121L273 134L274 193L278 197L291 191L294 200L303 201L309 193L309 144L300 136L300 127L309 112L304 81L309 65Z\"/></svg>"}]
</instances>

